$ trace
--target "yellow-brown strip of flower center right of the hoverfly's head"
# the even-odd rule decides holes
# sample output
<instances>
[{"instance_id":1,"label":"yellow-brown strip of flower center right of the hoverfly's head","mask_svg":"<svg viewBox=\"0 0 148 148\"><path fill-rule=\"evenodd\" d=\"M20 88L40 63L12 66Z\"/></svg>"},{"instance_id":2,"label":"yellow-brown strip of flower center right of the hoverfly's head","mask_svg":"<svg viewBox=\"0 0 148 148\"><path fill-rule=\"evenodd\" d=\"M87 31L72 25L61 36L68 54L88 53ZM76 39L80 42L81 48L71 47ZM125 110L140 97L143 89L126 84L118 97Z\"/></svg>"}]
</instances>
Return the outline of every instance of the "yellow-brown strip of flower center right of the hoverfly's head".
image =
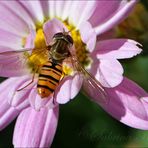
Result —
<instances>
[{"instance_id":1,"label":"yellow-brown strip of flower center right of the hoverfly's head","mask_svg":"<svg viewBox=\"0 0 148 148\"><path fill-rule=\"evenodd\" d=\"M70 31L71 36L74 40L75 54L77 59L84 68L89 68L92 64L92 59L89 56L89 50L87 45L82 41L79 30L74 25L70 25L68 21L64 21L67 29Z\"/></svg>"}]
</instances>

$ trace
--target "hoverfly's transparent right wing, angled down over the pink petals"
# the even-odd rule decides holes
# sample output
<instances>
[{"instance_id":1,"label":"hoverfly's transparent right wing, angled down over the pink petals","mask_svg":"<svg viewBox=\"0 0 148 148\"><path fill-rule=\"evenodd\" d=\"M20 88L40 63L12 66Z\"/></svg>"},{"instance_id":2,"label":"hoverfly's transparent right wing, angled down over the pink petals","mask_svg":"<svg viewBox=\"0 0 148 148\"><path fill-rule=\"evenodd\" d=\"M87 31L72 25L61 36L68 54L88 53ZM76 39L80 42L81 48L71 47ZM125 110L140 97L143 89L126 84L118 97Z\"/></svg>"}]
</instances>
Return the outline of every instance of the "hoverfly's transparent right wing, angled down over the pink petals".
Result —
<instances>
[{"instance_id":1,"label":"hoverfly's transparent right wing, angled down over the pink petals","mask_svg":"<svg viewBox=\"0 0 148 148\"><path fill-rule=\"evenodd\" d=\"M72 57L72 65L76 71L78 71L83 77L83 90L84 94L91 97L92 99L97 99L100 103L107 104L109 99L107 92L100 84L100 82L91 75L86 69L82 67L76 57Z\"/></svg>"}]
</instances>

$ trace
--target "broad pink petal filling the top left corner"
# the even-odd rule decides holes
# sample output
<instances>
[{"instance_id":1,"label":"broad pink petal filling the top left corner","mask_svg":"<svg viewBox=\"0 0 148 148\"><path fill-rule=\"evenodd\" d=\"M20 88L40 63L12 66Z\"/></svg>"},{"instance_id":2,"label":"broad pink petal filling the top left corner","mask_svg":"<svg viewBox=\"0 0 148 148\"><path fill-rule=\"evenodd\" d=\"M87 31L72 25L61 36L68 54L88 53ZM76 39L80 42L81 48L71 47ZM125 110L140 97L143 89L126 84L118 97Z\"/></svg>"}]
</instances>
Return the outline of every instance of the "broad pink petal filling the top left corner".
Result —
<instances>
[{"instance_id":1,"label":"broad pink petal filling the top left corner","mask_svg":"<svg viewBox=\"0 0 148 148\"><path fill-rule=\"evenodd\" d=\"M11 2L10 2L11 3ZM23 8L22 8L23 11ZM22 12L21 11L21 12ZM23 11L24 12L24 11ZM0 3L0 28L12 32L19 36L27 36L29 27L23 17L23 13L18 15L17 10L12 10L11 7L6 6L3 2Z\"/></svg>"}]
</instances>

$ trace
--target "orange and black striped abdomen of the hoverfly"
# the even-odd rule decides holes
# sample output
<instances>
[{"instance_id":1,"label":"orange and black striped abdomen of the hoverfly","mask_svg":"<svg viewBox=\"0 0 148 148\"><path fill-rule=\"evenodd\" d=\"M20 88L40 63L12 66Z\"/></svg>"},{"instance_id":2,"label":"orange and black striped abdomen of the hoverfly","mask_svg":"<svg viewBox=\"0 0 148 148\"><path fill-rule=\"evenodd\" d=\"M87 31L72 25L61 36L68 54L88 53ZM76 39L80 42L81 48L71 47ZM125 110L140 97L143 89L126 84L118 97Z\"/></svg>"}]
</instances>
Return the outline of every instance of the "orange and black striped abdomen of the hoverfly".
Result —
<instances>
[{"instance_id":1,"label":"orange and black striped abdomen of the hoverfly","mask_svg":"<svg viewBox=\"0 0 148 148\"><path fill-rule=\"evenodd\" d=\"M62 77L62 64L48 61L41 67L37 84L41 98L48 97L58 86Z\"/></svg>"}]
</instances>

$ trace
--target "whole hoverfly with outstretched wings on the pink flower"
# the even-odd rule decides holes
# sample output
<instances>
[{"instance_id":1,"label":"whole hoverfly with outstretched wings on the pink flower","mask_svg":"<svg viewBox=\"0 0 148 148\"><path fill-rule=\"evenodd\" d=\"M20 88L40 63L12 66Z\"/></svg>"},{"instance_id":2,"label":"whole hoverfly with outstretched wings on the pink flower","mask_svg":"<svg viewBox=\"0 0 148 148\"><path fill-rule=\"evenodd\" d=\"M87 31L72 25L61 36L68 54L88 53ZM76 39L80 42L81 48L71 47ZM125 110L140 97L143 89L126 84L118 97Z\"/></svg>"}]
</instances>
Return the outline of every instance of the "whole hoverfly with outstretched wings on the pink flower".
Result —
<instances>
[{"instance_id":1,"label":"whole hoverfly with outstretched wings on the pink flower","mask_svg":"<svg viewBox=\"0 0 148 148\"><path fill-rule=\"evenodd\" d=\"M99 97L106 102L107 96L104 88L83 66L79 63L76 56L74 56L70 48L73 45L73 39L68 34L68 32L58 32L53 36L53 43L45 47L45 49L33 49L32 53L29 55L29 60L36 57L37 60L44 58L44 62L39 62L42 64L36 65L37 70L35 70L34 75L39 71L38 82L37 82L37 92L41 98L46 98L53 95L54 91L58 87L60 81L63 79L63 69L62 64L65 59L70 59L71 65L76 73L80 74L84 78L84 83L90 88L88 90L88 95L95 89ZM30 50L30 49L29 49ZM27 52L27 49L21 51L7 51L0 53L1 58L9 58L11 56L18 56L19 53ZM39 54L40 53L40 54ZM29 54L29 53L28 53ZM36 55L40 55L40 58ZM24 62L25 63L25 62ZM26 64L26 63L25 63ZM19 89L23 90L29 86L34 81L34 76L32 81L25 87Z\"/></svg>"}]
</instances>

